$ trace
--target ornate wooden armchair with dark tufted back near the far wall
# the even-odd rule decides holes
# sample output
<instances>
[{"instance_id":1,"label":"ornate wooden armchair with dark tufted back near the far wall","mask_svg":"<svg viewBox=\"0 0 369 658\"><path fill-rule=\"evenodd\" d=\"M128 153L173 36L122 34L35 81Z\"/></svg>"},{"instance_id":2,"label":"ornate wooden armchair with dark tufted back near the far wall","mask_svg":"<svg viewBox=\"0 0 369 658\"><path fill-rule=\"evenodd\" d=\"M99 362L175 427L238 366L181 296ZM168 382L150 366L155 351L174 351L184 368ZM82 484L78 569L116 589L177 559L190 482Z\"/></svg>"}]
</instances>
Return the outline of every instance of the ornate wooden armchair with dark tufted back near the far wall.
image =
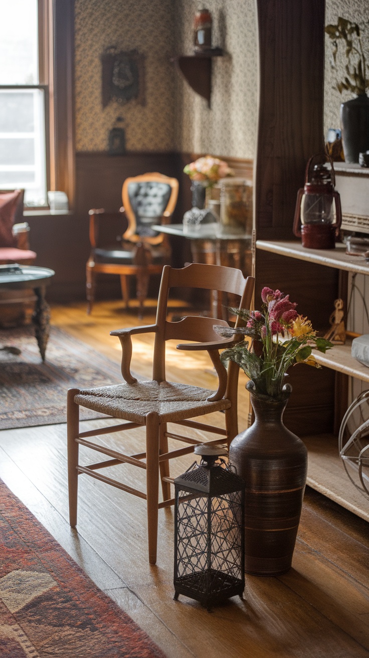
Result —
<instances>
[{"instance_id":1,"label":"ornate wooden armchair with dark tufted back near the far wall","mask_svg":"<svg viewBox=\"0 0 369 658\"><path fill-rule=\"evenodd\" d=\"M151 274L160 274L170 261L167 236L157 233L153 224L168 224L176 207L178 180L159 173L126 178L122 188L124 217L120 218L120 231L105 236L107 220L103 209L90 210L89 239L91 253L86 265L87 313L91 313L95 299L96 274L119 274L122 297L128 308L127 277L137 277L139 317L143 316L143 303L147 297ZM126 230L122 230L126 219Z\"/></svg>"}]
</instances>

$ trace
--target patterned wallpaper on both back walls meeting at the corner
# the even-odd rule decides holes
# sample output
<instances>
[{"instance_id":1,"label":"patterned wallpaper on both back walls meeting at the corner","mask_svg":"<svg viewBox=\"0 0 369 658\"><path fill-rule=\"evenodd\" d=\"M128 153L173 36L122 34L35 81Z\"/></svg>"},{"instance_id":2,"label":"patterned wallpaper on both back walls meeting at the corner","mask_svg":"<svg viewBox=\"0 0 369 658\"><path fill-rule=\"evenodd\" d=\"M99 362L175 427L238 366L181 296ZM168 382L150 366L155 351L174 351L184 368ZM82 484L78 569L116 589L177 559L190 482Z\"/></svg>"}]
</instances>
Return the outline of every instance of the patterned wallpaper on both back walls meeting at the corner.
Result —
<instances>
[{"instance_id":1,"label":"patterned wallpaper on both back walls meeting at the corner","mask_svg":"<svg viewBox=\"0 0 369 658\"><path fill-rule=\"evenodd\" d=\"M252 158L257 125L254 0L209 0L214 58L212 108L170 63L192 54L197 0L76 0L76 147L106 151L116 116L130 151L209 151ZM114 45L145 55L147 104L101 103L101 53Z\"/></svg>"}]
</instances>

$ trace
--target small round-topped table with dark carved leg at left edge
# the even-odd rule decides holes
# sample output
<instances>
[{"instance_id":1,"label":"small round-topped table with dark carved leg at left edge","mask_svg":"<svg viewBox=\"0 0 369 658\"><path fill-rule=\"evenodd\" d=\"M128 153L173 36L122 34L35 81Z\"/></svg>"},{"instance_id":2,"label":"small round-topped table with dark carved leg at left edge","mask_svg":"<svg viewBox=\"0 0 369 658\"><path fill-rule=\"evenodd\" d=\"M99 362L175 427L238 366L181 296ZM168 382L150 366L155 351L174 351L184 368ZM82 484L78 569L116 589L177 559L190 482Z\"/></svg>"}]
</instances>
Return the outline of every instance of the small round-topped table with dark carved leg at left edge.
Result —
<instances>
[{"instance_id":1,"label":"small round-topped table with dark carved leg at left edge","mask_svg":"<svg viewBox=\"0 0 369 658\"><path fill-rule=\"evenodd\" d=\"M0 290L34 290L35 310L32 322L41 359L45 361L45 351L50 333L50 307L45 300L45 288L55 272L47 267L22 266L22 272L0 274ZM19 303L19 299L16 300ZM28 299L29 301L29 299ZM9 303L9 300L6 300ZM1 304L1 300L0 300Z\"/></svg>"}]
</instances>

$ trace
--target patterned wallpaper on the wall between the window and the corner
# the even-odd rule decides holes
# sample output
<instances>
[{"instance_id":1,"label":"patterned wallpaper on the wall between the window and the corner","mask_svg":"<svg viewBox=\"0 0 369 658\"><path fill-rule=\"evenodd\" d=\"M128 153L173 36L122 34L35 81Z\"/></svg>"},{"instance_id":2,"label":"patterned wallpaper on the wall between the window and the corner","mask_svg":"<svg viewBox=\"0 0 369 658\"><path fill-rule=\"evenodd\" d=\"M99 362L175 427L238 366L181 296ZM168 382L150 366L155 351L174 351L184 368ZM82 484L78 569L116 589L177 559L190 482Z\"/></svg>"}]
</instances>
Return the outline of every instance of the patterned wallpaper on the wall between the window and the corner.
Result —
<instances>
[{"instance_id":1,"label":"patterned wallpaper on the wall between the window and the corner","mask_svg":"<svg viewBox=\"0 0 369 658\"><path fill-rule=\"evenodd\" d=\"M172 151L173 1L76 0L75 16L77 151L107 151L108 132L117 116L124 118L128 151ZM103 109L100 57L110 46L145 55L145 106L132 100Z\"/></svg>"}]
</instances>

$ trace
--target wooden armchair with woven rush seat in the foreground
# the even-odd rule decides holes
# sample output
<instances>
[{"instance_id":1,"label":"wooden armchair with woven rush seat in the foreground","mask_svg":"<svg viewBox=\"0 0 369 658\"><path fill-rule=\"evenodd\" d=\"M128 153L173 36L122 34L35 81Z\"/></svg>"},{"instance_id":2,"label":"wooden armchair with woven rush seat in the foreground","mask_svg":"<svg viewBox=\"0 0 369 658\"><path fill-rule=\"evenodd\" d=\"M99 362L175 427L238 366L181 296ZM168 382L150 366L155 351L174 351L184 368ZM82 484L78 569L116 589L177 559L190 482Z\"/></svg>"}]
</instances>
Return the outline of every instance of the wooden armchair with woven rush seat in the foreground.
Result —
<instances>
[{"instance_id":1,"label":"wooden armchair with woven rush seat in the foreground","mask_svg":"<svg viewBox=\"0 0 369 658\"><path fill-rule=\"evenodd\" d=\"M147 500L147 524L149 536L149 562L157 560L157 529L158 511L162 507L174 504L170 497L169 459L191 453L197 443L193 438L168 432L167 424L174 423L190 428L212 432L218 438L209 443L218 443L225 437L228 444L237 434L237 381L239 368L234 363L226 368L220 362L219 349L232 343L232 338L220 338L214 332L214 322L228 326L225 320L214 318L191 317L182 318L179 322L166 320L168 291L173 287L203 288L205 290L220 290L234 293L241 297L240 307L248 309L254 288L254 279L243 278L241 270L218 266L192 263L177 270L166 265L162 272L157 320L155 324L134 328L119 329L111 332L118 336L122 344L122 376L126 384L118 386L103 386L102 388L79 390L71 388L68 391L68 488L70 506L70 525L77 522L77 490L78 475L86 473L93 478L107 482L126 492L133 493ZM238 322L239 318L237 318ZM130 373L132 357L131 336L134 334L155 333L153 355L153 379L137 382ZM218 390L210 391L197 386L174 384L167 382L165 377L165 342L166 340L189 340L193 343L180 343L177 349L206 350L218 374ZM79 407L87 407L99 413L105 413L114 418L123 418L125 424L117 424L107 428L99 428L88 432L80 432ZM226 429L200 423L188 418L206 415L214 411L225 411ZM99 434L120 432L139 426L146 426L146 451L137 455L126 455L108 449L87 438ZM168 437L180 442L189 443L189 447L168 451ZM111 459L84 467L78 464L79 445L97 450ZM143 461L146 460L146 461ZM147 478L146 493L116 482L112 478L97 474L99 468L110 467L120 463L129 463L139 468L145 468ZM163 502L159 503L159 474L162 484Z\"/></svg>"}]
</instances>

